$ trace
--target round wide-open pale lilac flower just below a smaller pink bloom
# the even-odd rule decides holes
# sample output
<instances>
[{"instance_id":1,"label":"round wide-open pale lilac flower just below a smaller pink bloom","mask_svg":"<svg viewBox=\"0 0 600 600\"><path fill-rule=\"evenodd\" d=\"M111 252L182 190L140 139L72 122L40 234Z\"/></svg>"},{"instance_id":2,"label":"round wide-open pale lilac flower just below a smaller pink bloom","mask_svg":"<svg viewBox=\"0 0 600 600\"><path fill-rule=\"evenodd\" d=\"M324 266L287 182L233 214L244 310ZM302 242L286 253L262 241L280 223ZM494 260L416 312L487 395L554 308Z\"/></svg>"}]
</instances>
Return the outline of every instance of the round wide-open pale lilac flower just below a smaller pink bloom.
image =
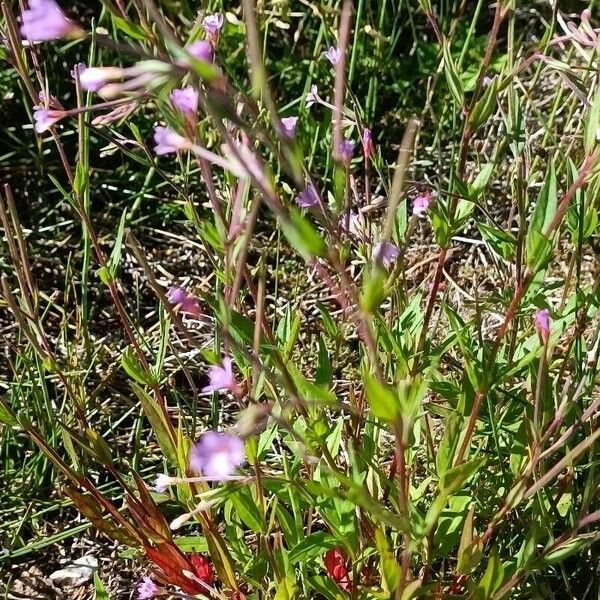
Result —
<instances>
[{"instance_id":1,"label":"round wide-open pale lilac flower just below a smaller pink bloom","mask_svg":"<svg viewBox=\"0 0 600 600\"><path fill-rule=\"evenodd\" d=\"M230 433L209 431L190 453L190 469L207 479L226 481L246 460L244 442Z\"/></svg>"}]
</instances>

